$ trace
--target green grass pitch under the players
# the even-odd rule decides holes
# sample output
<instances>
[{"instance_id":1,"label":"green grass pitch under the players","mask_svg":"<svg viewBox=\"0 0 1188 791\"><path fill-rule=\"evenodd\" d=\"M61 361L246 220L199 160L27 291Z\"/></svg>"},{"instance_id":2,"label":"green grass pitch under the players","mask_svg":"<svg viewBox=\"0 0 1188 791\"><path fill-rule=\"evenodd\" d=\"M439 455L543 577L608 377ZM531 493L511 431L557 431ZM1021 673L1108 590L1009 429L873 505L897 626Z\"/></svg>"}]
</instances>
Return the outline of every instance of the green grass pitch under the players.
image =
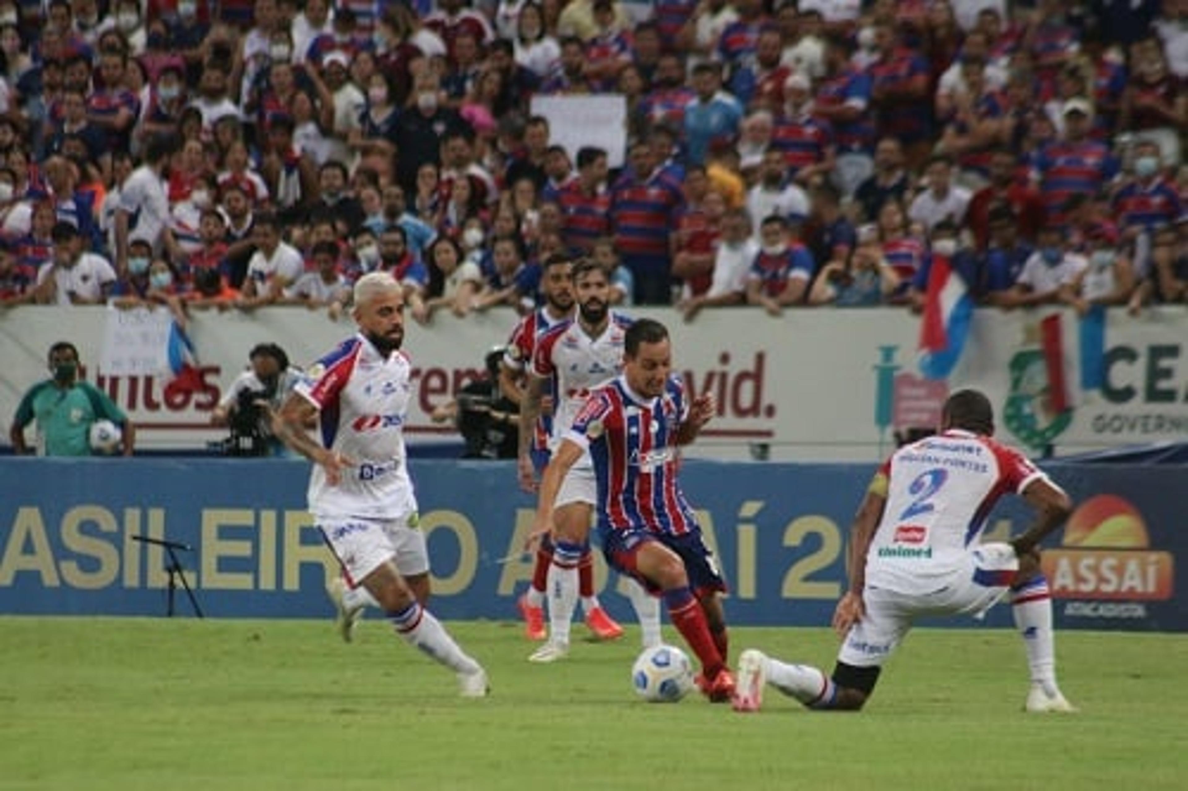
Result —
<instances>
[{"instance_id":1,"label":"green grass pitch under the players","mask_svg":"<svg viewBox=\"0 0 1188 791\"><path fill-rule=\"evenodd\" d=\"M1029 716L1009 631L915 632L861 714L634 698L636 637L537 666L513 624L455 624L493 695L367 620L0 618L0 789L1188 787L1188 639L1062 633L1078 715ZM676 638L666 627L669 639ZM734 629L832 666L824 629Z\"/></svg>"}]
</instances>

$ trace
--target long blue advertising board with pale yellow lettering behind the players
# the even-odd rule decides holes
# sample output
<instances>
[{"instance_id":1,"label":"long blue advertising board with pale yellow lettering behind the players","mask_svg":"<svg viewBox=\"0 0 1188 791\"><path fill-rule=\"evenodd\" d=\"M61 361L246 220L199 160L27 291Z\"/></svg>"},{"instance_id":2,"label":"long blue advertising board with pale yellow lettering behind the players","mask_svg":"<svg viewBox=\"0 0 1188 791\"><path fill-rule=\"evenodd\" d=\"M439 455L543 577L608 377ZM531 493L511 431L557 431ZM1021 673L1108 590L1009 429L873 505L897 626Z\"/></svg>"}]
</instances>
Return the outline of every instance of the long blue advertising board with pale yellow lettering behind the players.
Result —
<instances>
[{"instance_id":1,"label":"long blue advertising board with pale yellow lettering behind the players","mask_svg":"<svg viewBox=\"0 0 1188 791\"><path fill-rule=\"evenodd\" d=\"M533 500L512 463L413 461L434 564L435 612L511 619L531 576L520 546ZM688 461L683 485L731 584L738 625L828 624L845 584L849 521L872 474L865 464ZM1044 568L1063 627L1188 629L1175 589L1182 467L1049 468L1078 504L1047 543ZM305 512L302 462L169 458L0 458L0 613L160 615L168 555L178 552L206 613L316 618L334 559ZM991 517L991 539L1028 524L1015 500ZM618 580L598 558L612 614L631 620ZM178 612L189 614L184 597ZM991 625L1006 625L997 607ZM953 621L953 625L960 625Z\"/></svg>"}]
</instances>

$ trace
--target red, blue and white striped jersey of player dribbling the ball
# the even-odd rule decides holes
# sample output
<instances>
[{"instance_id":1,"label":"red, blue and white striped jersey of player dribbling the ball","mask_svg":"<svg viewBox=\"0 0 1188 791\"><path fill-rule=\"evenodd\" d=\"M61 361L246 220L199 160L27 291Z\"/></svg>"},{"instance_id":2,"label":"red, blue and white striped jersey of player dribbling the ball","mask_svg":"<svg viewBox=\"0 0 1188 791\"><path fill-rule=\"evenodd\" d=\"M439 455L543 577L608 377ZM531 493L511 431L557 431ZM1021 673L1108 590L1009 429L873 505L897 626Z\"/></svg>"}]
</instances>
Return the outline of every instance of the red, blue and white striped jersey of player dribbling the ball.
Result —
<instances>
[{"instance_id":1,"label":"red, blue and white striped jersey of player dribbling the ball","mask_svg":"<svg viewBox=\"0 0 1188 791\"><path fill-rule=\"evenodd\" d=\"M669 378L652 399L631 392L623 376L595 391L565 438L589 451L598 481L598 526L664 536L697 532L677 482L681 424L689 417L684 382Z\"/></svg>"}]
</instances>

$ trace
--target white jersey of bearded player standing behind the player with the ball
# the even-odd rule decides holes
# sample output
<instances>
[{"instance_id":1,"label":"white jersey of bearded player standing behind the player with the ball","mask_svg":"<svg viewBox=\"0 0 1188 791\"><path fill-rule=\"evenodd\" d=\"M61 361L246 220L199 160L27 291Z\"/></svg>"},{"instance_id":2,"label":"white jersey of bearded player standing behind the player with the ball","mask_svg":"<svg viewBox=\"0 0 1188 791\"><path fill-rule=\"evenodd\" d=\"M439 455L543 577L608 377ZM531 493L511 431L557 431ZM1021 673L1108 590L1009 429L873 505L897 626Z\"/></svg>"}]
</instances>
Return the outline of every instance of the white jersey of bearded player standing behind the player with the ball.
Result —
<instances>
[{"instance_id":1,"label":"white jersey of bearded player standing behind the player with the ball","mask_svg":"<svg viewBox=\"0 0 1188 791\"><path fill-rule=\"evenodd\" d=\"M631 318L611 311L606 329L590 337L577 321L551 328L536 344L532 373L556 376L556 409L552 413L552 450L569 431L590 391L607 384L623 369L623 347Z\"/></svg>"}]
</instances>

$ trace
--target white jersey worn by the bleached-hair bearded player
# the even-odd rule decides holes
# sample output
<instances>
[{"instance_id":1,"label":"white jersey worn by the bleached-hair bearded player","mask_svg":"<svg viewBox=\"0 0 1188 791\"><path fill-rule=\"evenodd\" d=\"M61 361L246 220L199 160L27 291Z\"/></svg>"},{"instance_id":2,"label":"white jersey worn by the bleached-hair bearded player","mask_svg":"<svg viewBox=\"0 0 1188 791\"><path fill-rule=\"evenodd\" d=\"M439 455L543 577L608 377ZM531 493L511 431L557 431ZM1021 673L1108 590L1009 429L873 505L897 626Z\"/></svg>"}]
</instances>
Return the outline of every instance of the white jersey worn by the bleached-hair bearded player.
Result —
<instances>
[{"instance_id":1,"label":"white jersey worn by the bleached-hair bearded player","mask_svg":"<svg viewBox=\"0 0 1188 791\"><path fill-rule=\"evenodd\" d=\"M322 443L352 462L337 486L314 466L309 511L317 518L392 518L417 510L404 450L412 401L412 363L404 352L384 357L361 335L309 369L297 386L320 410Z\"/></svg>"}]
</instances>

